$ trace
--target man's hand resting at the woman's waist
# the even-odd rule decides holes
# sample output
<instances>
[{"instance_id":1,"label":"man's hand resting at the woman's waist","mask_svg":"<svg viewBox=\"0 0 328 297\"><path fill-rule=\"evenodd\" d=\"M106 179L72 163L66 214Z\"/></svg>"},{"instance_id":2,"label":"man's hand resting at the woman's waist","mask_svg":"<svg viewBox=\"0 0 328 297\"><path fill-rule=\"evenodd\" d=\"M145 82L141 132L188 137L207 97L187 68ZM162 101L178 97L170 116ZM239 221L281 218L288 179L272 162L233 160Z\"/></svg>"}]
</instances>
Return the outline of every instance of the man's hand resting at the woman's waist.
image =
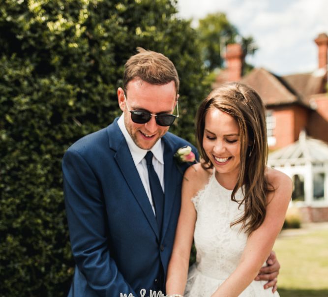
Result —
<instances>
[{"instance_id":1,"label":"man's hand resting at the woman's waist","mask_svg":"<svg viewBox=\"0 0 328 297\"><path fill-rule=\"evenodd\" d=\"M267 259L267 267L262 267L255 280L267 280L264 285L265 289L272 287L272 293L277 291L277 276L279 274L280 264L275 256L275 252L271 251Z\"/></svg>"}]
</instances>

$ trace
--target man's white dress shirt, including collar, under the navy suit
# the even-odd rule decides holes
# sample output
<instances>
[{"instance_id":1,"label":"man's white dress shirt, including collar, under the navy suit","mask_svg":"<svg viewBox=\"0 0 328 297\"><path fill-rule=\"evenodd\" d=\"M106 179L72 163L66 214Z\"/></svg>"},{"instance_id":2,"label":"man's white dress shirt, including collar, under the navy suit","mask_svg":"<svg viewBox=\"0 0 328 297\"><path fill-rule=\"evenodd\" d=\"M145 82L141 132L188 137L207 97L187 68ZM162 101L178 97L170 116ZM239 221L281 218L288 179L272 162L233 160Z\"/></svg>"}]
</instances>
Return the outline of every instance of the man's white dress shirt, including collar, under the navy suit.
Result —
<instances>
[{"instance_id":1,"label":"man's white dress shirt, including collar, under the navy suit","mask_svg":"<svg viewBox=\"0 0 328 297\"><path fill-rule=\"evenodd\" d=\"M147 169L147 164L146 164L146 160L145 160L145 156L146 156L146 153L148 152L148 150L139 148L134 143L129 132L127 131L127 129L125 127L124 114L122 114L119 117L118 124L119 124L119 129L123 133L123 136L127 142L127 146L131 152L132 159L134 161L134 165L137 168L137 171L139 173L141 181L142 181L144 188L146 190L146 193L148 195L152 211L155 214L155 208L154 208L154 204L153 204L153 201L151 198L151 191L150 191L149 178L148 178L148 169ZM164 145L162 143L162 140L159 139L155 143L155 145L150 149L150 151L153 153L152 165L154 167L155 172L158 175L158 178L159 178L159 181L161 183L163 193L164 193L164 158L163 158Z\"/></svg>"}]
</instances>

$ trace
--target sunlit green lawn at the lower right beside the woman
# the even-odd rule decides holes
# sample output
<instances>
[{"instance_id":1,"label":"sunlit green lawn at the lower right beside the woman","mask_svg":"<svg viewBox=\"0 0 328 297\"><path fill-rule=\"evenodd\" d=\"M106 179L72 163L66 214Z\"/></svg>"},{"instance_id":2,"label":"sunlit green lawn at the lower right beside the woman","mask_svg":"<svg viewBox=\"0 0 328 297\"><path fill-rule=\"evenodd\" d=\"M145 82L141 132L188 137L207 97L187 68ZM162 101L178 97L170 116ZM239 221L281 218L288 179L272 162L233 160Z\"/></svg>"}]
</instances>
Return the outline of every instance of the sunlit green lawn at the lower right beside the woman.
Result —
<instances>
[{"instance_id":1,"label":"sunlit green lawn at the lower right beside the woman","mask_svg":"<svg viewBox=\"0 0 328 297\"><path fill-rule=\"evenodd\" d=\"M284 230L275 242L281 297L328 297L328 225L311 226Z\"/></svg>"}]
</instances>

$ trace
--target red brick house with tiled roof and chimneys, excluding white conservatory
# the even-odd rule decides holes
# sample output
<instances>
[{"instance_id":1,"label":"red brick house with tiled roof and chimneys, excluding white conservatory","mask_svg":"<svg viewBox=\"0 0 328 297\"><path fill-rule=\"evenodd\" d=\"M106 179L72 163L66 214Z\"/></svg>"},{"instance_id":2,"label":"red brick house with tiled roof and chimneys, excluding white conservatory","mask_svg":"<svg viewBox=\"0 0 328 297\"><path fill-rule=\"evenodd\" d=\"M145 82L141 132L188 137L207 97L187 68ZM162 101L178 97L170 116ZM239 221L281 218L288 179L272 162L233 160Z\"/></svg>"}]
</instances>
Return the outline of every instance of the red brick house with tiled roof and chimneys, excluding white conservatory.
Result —
<instances>
[{"instance_id":1,"label":"red brick house with tiled roof and chimneys, excluding white conservatory","mask_svg":"<svg viewBox=\"0 0 328 297\"><path fill-rule=\"evenodd\" d=\"M322 33L315 42L319 52L318 69L287 76L256 68L242 77L244 56L241 46L227 46L227 69L218 75L213 87L240 81L259 93L267 108L270 150L294 143L303 129L308 136L328 142L328 36Z\"/></svg>"}]
</instances>

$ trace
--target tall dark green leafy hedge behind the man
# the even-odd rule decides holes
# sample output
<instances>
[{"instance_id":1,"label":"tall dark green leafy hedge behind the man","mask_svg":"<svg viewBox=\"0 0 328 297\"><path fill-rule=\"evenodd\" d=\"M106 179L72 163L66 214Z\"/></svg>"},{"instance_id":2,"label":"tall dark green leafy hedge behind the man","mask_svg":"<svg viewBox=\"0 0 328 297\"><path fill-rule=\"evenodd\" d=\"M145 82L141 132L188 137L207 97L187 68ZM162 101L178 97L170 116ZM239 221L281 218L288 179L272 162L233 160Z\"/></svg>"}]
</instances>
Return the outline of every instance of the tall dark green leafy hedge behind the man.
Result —
<instances>
[{"instance_id":1,"label":"tall dark green leafy hedge behind the man","mask_svg":"<svg viewBox=\"0 0 328 297\"><path fill-rule=\"evenodd\" d=\"M176 64L194 142L208 91L194 30L170 0L0 1L0 296L66 296L73 273L61 158L120 112L116 90L137 46Z\"/></svg>"}]
</instances>

